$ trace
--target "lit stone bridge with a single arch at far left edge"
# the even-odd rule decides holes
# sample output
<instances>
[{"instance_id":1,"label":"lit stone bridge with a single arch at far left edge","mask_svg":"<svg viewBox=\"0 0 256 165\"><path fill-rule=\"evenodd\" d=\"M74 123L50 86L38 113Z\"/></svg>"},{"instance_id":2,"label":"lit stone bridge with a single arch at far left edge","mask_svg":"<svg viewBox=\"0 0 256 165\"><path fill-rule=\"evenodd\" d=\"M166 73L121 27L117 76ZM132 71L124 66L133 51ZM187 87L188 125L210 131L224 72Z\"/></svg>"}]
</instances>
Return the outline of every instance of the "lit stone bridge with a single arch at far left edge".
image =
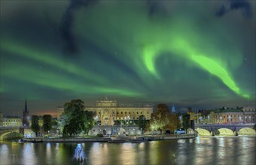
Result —
<instances>
[{"instance_id":1,"label":"lit stone bridge with a single arch at far left edge","mask_svg":"<svg viewBox=\"0 0 256 165\"><path fill-rule=\"evenodd\" d=\"M0 140L20 138L24 135L24 127L0 127Z\"/></svg>"}]
</instances>

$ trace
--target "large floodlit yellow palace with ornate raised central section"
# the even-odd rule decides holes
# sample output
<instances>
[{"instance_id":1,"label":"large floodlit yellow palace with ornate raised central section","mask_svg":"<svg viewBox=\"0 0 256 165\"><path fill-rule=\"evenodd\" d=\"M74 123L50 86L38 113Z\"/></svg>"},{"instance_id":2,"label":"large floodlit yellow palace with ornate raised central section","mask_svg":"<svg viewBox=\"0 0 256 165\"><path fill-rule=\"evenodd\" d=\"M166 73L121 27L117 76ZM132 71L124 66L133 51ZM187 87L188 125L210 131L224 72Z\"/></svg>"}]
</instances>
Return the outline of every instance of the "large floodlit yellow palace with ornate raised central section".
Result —
<instances>
[{"instance_id":1,"label":"large floodlit yellow palace with ornate raised central section","mask_svg":"<svg viewBox=\"0 0 256 165\"><path fill-rule=\"evenodd\" d=\"M96 102L96 107L85 107L84 110L96 113L95 120L99 125L114 125L122 122L134 124L139 120L140 115L145 120L151 118L154 106L152 104L117 104L117 101L110 101L108 98ZM58 119L64 112L63 107L58 107Z\"/></svg>"}]
</instances>

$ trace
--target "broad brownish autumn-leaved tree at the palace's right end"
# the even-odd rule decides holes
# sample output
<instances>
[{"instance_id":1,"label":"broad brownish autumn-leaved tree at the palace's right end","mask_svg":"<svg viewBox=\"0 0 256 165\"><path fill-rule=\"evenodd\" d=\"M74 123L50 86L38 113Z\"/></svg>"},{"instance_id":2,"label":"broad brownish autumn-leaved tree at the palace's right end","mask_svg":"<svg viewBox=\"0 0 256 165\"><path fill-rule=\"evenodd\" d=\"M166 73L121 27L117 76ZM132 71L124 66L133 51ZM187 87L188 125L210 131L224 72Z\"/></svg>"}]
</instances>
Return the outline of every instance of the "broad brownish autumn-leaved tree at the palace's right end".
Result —
<instances>
[{"instance_id":1,"label":"broad brownish autumn-leaved tree at the palace's right end","mask_svg":"<svg viewBox=\"0 0 256 165\"><path fill-rule=\"evenodd\" d=\"M158 104L157 110L151 114L150 128L151 130L174 131L178 125L178 117L169 111L166 104Z\"/></svg>"}]
</instances>

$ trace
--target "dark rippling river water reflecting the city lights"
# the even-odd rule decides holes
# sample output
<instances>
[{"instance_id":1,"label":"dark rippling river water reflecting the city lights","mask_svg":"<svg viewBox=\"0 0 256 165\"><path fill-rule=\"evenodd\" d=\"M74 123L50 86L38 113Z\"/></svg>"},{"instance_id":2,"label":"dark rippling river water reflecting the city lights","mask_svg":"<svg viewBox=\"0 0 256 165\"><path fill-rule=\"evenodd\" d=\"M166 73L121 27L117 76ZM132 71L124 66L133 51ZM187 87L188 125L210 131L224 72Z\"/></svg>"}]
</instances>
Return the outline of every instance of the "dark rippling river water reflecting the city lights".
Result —
<instances>
[{"instance_id":1,"label":"dark rippling river water reflecting the city lights","mask_svg":"<svg viewBox=\"0 0 256 165\"><path fill-rule=\"evenodd\" d=\"M148 143L0 143L0 164L255 164L255 136L214 136Z\"/></svg>"}]
</instances>

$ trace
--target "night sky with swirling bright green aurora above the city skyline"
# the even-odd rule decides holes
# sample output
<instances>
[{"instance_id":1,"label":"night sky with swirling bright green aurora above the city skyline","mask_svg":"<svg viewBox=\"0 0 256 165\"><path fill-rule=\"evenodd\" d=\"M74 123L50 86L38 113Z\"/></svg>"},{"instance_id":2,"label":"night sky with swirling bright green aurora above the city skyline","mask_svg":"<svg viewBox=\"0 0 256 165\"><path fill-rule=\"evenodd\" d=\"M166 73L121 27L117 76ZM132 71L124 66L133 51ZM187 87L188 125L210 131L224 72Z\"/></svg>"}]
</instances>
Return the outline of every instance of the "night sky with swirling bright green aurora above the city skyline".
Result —
<instances>
[{"instance_id":1,"label":"night sky with swirling bright green aurora above the city skyline","mask_svg":"<svg viewBox=\"0 0 256 165\"><path fill-rule=\"evenodd\" d=\"M1 0L1 111L255 106L255 1Z\"/></svg>"}]
</instances>

